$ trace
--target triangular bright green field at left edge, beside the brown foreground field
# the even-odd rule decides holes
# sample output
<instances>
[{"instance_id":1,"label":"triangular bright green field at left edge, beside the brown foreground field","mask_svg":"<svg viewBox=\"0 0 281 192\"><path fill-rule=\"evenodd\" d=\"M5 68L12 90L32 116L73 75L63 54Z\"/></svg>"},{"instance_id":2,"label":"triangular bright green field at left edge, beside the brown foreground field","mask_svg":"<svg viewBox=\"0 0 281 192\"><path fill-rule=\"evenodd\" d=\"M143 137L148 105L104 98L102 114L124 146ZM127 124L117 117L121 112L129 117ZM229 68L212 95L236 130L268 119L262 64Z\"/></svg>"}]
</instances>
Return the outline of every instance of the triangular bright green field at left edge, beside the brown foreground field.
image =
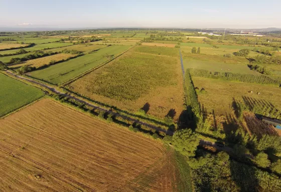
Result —
<instances>
[{"instance_id":1,"label":"triangular bright green field at left edge, beside the brown foreground field","mask_svg":"<svg viewBox=\"0 0 281 192\"><path fill-rule=\"evenodd\" d=\"M44 92L0 73L0 117L41 97Z\"/></svg>"}]
</instances>

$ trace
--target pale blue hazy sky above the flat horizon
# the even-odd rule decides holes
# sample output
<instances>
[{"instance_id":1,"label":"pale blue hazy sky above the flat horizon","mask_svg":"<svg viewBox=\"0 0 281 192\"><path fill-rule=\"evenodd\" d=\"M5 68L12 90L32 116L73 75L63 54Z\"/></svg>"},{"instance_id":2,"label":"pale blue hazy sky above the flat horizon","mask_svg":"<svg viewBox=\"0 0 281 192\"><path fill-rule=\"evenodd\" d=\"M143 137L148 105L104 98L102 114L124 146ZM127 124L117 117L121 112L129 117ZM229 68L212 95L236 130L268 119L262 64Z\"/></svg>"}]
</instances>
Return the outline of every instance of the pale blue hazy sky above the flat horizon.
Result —
<instances>
[{"instance_id":1,"label":"pale blue hazy sky above the flat horizon","mask_svg":"<svg viewBox=\"0 0 281 192\"><path fill-rule=\"evenodd\" d=\"M281 28L280 8L280 0L0 0L0 27Z\"/></svg>"}]
</instances>

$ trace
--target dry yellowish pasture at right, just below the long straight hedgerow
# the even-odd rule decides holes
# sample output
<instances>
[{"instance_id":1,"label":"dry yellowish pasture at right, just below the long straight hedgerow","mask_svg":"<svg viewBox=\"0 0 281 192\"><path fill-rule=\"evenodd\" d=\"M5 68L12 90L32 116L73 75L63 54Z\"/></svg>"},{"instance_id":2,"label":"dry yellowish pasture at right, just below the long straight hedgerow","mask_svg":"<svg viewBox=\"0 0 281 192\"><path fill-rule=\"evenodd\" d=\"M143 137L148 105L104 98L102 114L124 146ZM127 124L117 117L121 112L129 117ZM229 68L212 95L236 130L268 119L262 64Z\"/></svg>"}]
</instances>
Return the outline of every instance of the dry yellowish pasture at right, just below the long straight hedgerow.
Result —
<instances>
[{"instance_id":1,"label":"dry yellowish pasture at right, just below the long straight hedgerow","mask_svg":"<svg viewBox=\"0 0 281 192\"><path fill-rule=\"evenodd\" d=\"M204 88L205 93L198 92L198 100L201 106L207 108L208 112L214 112L218 115L226 115L230 112L233 98L236 101L243 101L242 97L249 97L254 100L270 102L277 109L281 109L280 98L281 91L277 86L231 82L226 80L208 79L192 77L195 87L199 90ZM248 93L248 91L253 91ZM260 94L257 94L260 92Z\"/></svg>"}]
</instances>

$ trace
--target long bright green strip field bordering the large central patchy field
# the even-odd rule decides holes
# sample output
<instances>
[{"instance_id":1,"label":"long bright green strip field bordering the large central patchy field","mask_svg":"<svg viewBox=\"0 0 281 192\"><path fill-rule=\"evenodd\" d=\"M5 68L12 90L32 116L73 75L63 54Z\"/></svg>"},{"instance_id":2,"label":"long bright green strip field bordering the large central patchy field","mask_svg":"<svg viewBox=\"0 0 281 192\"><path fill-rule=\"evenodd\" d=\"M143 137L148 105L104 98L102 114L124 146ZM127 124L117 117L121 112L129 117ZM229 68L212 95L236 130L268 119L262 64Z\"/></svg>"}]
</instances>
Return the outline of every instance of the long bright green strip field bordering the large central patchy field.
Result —
<instances>
[{"instance_id":1,"label":"long bright green strip field bordering the large central patchy field","mask_svg":"<svg viewBox=\"0 0 281 192\"><path fill-rule=\"evenodd\" d=\"M54 84L60 84L79 74L96 67L97 65L109 60L111 57L105 55L118 55L130 46L113 45L97 52L86 54L68 61L58 63L45 69L36 70L29 73L30 76L42 79Z\"/></svg>"}]
</instances>

